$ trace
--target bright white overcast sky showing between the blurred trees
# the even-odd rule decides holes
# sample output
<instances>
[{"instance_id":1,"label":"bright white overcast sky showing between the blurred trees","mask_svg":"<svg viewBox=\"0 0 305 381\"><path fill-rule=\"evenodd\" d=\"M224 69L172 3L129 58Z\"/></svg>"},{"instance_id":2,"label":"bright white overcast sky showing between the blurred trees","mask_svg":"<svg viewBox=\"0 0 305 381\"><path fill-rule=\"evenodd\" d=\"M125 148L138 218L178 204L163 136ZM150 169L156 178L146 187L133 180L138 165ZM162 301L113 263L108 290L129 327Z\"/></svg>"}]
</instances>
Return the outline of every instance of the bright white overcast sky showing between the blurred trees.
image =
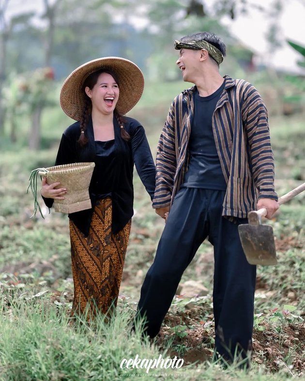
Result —
<instances>
[{"instance_id":1,"label":"bright white overcast sky showing between the blurred trees","mask_svg":"<svg viewBox=\"0 0 305 381\"><path fill-rule=\"evenodd\" d=\"M211 5L212 1L217 0L206 0L205 3ZM262 5L268 9L274 0L248 0L248 2ZM140 3L139 0L139 5ZM42 12L43 0L9 0L8 14L18 14L26 10ZM224 17L222 22L229 26L231 33L244 45L252 48L262 59L266 57L268 45L265 36L270 22L268 18L264 19L261 12L251 8L248 15L238 15L234 20ZM279 25L279 37L283 41L283 47L276 51L271 64L277 68L297 71L296 61L301 60L302 56L286 44L286 39L291 39L305 46L305 0L285 1Z\"/></svg>"}]
</instances>

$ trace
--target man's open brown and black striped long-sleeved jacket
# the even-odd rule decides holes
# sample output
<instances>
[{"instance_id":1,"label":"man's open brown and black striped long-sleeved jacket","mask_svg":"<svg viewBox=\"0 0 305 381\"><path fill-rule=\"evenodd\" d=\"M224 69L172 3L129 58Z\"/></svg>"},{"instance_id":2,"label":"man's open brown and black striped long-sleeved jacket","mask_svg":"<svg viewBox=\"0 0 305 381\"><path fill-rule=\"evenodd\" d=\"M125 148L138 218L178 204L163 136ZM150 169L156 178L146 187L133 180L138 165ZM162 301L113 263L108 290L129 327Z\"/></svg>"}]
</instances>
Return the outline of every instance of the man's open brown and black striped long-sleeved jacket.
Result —
<instances>
[{"instance_id":1,"label":"man's open brown and black striped long-sleeved jacket","mask_svg":"<svg viewBox=\"0 0 305 381\"><path fill-rule=\"evenodd\" d=\"M225 88L213 113L213 133L228 184L223 215L246 218L258 198L273 198L274 155L268 113L259 92L243 79L225 76ZM170 206L183 183L196 86L172 102L158 142L153 208Z\"/></svg>"}]
</instances>

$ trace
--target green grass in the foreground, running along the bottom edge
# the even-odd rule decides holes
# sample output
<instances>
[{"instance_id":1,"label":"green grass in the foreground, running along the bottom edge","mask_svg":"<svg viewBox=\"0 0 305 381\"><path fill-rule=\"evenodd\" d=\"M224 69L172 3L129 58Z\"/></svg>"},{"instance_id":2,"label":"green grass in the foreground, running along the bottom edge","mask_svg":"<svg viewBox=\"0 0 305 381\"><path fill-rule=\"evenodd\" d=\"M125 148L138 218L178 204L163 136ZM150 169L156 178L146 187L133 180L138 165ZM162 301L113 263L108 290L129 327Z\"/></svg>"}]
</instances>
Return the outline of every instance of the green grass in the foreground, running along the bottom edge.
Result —
<instances>
[{"instance_id":1,"label":"green grass in the foreground, running along the bottom edge","mask_svg":"<svg viewBox=\"0 0 305 381\"><path fill-rule=\"evenodd\" d=\"M134 359L136 355L149 360L157 359L160 354L163 359L169 358L156 344L141 340L139 332L130 333L134 312L127 302L119 302L116 316L108 323L98 316L94 323L77 318L71 325L70 304L64 303L64 298L61 303L55 303L47 290L34 294L37 290L29 287L28 291L16 290L13 296L8 291L1 294L1 380L289 379L285 369L272 375L263 366L255 366L246 374L238 364L224 371L219 364L209 361L181 369L151 368L149 374L145 368L121 369L122 359ZM181 346L180 351L183 351Z\"/></svg>"}]
</instances>

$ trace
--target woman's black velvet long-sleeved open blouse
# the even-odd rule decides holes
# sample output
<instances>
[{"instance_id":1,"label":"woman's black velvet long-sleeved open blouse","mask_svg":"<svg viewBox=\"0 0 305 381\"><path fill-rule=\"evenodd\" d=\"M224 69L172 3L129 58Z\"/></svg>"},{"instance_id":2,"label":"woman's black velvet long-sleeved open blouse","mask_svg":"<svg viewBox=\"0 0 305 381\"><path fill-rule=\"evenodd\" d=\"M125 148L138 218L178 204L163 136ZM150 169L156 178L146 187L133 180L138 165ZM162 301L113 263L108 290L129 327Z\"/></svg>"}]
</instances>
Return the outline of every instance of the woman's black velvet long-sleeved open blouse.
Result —
<instances>
[{"instance_id":1,"label":"woman's black velvet long-sleeved open blouse","mask_svg":"<svg viewBox=\"0 0 305 381\"><path fill-rule=\"evenodd\" d=\"M86 236L89 233L93 208L97 197L94 189L98 182L109 183L112 199L112 232L119 232L133 216L133 170L136 166L137 173L144 184L151 199L153 198L155 188L155 165L152 159L152 153L141 124L132 118L124 117L124 128L131 136L130 141L125 141L121 137L121 128L116 120L114 124L114 149L115 157L112 160L112 178L102 178L97 173L97 166L93 170L92 180L89 187L89 195L92 202L92 208L84 211L70 213L69 218L76 224ZM95 162L96 148L93 134L92 118L88 121L86 136L88 143L81 147L77 140L80 135L79 122L70 125L62 134L59 150L57 153L55 165ZM108 187L108 188L109 188ZM44 198L47 207L53 205L52 198Z\"/></svg>"}]
</instances>

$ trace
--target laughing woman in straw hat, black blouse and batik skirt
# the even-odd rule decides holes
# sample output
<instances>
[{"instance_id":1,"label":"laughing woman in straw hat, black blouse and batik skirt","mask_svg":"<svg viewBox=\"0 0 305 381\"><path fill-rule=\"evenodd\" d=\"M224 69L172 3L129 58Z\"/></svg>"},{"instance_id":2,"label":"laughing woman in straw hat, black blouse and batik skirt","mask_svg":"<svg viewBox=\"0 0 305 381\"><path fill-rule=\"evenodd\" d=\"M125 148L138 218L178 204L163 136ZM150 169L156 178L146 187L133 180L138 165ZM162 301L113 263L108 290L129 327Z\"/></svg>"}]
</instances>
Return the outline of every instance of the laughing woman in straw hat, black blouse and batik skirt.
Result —
<instances>
[{"instance_id":1,"label":"laughing woman in straw hat, black blouse and batik skirt","mask_svg":"<svg viewBox=\"0 0 305 381\"><path fill-rule=\"evenodd\" d=\"M87 62L67 77L61 107L77 122L61 137L55 165L94 162L89 187L92 209L69 214L75 312L106 314L117 305L133 215L133 169L151 199L155 166L144 128L122 117L141 97L144 79L133 62L106 57ZM48 207L62 199L60 183L42 181Z\"/></svg>"}]
</instances>

